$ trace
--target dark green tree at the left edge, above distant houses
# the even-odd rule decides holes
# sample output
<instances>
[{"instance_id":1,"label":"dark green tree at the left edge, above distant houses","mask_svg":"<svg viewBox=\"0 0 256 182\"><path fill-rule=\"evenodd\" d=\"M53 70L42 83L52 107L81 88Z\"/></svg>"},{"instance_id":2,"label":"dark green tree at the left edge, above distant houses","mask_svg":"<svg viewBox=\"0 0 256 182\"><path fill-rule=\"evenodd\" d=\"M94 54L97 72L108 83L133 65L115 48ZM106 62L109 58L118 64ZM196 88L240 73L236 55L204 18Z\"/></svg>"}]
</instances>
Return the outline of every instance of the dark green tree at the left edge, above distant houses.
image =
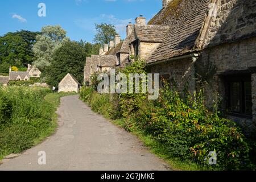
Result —
<instances>
[{"instance_id":1,"label":"dark green tree at the left edge, above distant houses","mask_svg":"<svg viewBox=\"0 0 256 182\"><path fill-rule=\"evenodd\" d=\"M0 67L4 67L1 72L9 71L9 68L6 69L7 64L24 67L34 61L32 47L36 42L36 35L39 32L20 30L0 36Z\"/></svg>"}]
</instances>

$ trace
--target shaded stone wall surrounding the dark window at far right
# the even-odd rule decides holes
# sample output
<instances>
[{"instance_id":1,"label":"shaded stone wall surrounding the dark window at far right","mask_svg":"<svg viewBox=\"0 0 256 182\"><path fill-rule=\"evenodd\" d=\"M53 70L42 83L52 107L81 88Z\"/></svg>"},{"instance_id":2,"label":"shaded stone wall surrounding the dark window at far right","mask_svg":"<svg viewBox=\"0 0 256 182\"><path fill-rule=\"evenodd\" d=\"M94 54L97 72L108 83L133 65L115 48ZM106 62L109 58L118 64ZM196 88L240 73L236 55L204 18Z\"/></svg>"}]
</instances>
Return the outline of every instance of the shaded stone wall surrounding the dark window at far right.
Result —
<instances>
[{"instance_id":1,"label":"shaded stone wall surrounding the dark window at far right","mask_svg":"<svg viewBox=\"0 0 256 182\"><path fill-rule=\"evenodd\" d=\"M248 72L251 67L256 67L256 38L248 38L240 42L226 43L221 46L210 47L201 52L200 59L196 63L196 73L208 75L208 84L205 84L205 96L207 105L213 106L213 101L221 101L221 109L226 109L228 98L225 90L225 72ZM212 70L210 70L212 69ZM234 73L236 74L236 73ZM256 121L256 75L252 74L252 102L253 121ZM254 130L251 119L229 116L246 131Z\"/></svg>"}]
</instances>

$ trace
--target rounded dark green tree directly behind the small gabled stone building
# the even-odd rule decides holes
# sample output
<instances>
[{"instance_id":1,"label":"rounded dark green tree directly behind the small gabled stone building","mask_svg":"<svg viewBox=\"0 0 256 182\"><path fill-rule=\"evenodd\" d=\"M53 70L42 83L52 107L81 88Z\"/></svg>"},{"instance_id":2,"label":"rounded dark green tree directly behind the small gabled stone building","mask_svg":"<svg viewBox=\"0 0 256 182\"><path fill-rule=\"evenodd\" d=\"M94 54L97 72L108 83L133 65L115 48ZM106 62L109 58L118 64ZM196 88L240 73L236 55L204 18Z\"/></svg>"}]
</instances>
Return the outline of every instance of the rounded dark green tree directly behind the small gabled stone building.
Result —
<instances>
[{"instance_id":1,"label":"rounded dark green tree directly behind the small gabled stone building","mask_svg":"<svg viewBox=\"0 0 256 182\"><path fill-rule=\"evenodd\" d=\"M71 73L82 84L84 79L86 51L77 42L64 42L53 54L50 67L43 73L48 85L56 86L67 73Z\"/></svg>"}]
</instances>

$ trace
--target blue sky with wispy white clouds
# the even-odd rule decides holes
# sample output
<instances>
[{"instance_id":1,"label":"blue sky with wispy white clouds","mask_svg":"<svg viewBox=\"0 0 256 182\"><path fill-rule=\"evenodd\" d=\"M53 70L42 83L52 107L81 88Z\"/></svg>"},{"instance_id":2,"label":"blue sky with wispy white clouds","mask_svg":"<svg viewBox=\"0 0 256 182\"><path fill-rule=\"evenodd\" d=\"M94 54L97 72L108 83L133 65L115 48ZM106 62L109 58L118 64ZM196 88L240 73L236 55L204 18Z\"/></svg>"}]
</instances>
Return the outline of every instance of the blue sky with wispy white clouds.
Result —
<instances>
[{"instance_id":1,"label":"blue sky with wispy white clouds","mask_svg":"<svg viewBox=\"0 0 256 182\"><path fill-rule=\"evenodd\" d=\"M38 4L46 4L46 17ZM59 24L72 40L93 41L95 23L114 24L125 38L125 26L143 15L147 20L162 8L162 0L8 0L0 2L0 36L16 30L40 31Z\"/></svg>"}]
</instances>

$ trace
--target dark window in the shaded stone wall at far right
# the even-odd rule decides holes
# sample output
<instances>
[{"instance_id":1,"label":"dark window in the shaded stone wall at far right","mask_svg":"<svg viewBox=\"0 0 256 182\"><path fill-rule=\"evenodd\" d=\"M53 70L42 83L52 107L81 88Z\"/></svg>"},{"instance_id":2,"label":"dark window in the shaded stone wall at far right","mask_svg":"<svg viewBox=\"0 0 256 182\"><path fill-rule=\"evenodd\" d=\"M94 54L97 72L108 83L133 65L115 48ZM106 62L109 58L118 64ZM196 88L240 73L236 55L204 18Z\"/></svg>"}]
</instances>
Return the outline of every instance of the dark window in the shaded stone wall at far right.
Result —
<instances>
[{"instance_id":1,"label":"dark window in the shaded stone wall at far right","mask_svg":"<svg viewBox=\"0 0 256 182\"><path fill-rule=\"evenodd\" d=\"M229 113L252 115L251 76L229 77L227 85Z\"/></svg>"}]
</instances>

